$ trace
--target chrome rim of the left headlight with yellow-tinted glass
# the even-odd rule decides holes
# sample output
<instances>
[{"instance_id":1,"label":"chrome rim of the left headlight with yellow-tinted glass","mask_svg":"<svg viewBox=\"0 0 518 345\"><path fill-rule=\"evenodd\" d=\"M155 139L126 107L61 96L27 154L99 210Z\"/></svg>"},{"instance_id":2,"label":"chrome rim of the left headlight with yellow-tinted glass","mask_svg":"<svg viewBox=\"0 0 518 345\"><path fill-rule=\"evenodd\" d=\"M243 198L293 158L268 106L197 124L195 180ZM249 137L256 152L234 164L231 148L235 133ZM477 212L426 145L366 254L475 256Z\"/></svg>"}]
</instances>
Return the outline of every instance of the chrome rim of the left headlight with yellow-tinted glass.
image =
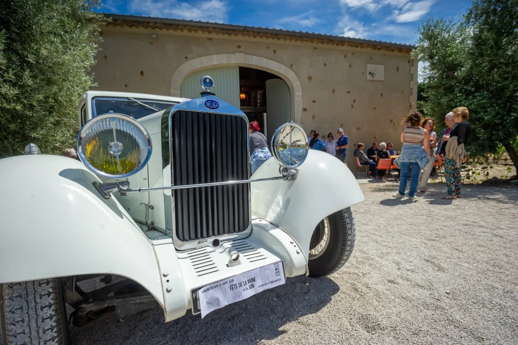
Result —
<instances>
[{"instance_id":1,"label":"chrome rim of the left headlight with yellow-tinted glass","mask_svg":"<svg viewBox=\"0 0 518 345\"><path fill-rule=\"evenodd\" d=\"M144 134L147 145L148 145L148 150L147 150L148 152L146 154L146 159L135 170L132 170L130 172L127 172L126 174L121 174L121 175L107 174L106 172L100 171L99 169L92 166L90 164L90 162L88 162L87 157L84 156L84 153L81 150L81 146L80 146L81 134L83 133L83 131L87 130L95 122L106 119L106 118L117 118L117 119L122 119L122 120L128 121L128 122L132 123L133 125L135 125L138 128L138 130L140 130ZM76 139L76 147L77 147L77 155L79 157L79 160L84 164L84 166L87 167L88 170L92 171L95 175L104 177L107 179L127 179L127 178L137 174L140 170L142 170L143 168L145 168L148 165L149 160L151 159L151 152L153 151L153 143L151 142L151 136L149 135L148 131L146 130L146 127L144 127L140 122L138 122L131 116L117 113L117 112L113 112L113 113L109 112L109 113L105 113L105 114L100 114L100 115L88 120L79 130L79 134L77 135L77 139Z\"/></svg>"}]
</instances>

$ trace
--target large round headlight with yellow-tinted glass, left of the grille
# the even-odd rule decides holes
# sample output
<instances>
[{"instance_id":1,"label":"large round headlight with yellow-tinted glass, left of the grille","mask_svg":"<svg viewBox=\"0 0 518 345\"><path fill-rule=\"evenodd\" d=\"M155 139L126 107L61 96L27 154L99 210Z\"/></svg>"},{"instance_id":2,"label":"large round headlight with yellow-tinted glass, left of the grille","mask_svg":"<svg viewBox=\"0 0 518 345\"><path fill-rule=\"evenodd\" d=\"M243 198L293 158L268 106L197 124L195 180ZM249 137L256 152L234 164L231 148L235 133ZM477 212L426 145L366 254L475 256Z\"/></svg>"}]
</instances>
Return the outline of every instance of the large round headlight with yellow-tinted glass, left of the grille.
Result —
<instances>
[{"instance_id":1,"label":"large round headlight with yellow-tinted glass, left of the grille","mask_svg":"<svg viewBox=\"0 0 518 345\"><path fill-rule=\"evenodd\" d=\"M135 119L117 113L97 116L77 137L81 162L94 174L122 179L137 174L151 156L151 138Z\"/></svg>"}]
</instances>

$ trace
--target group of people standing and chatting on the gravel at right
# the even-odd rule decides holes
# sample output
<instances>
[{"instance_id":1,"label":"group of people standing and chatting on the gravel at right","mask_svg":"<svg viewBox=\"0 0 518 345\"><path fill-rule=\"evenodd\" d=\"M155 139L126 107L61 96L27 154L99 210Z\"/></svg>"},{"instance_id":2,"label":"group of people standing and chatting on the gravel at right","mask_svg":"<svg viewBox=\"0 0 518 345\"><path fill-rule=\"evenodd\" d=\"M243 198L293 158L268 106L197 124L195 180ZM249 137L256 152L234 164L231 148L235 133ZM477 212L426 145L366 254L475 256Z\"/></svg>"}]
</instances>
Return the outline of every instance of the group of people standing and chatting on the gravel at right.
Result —
<instances>
[{"instance_id":1,"label":"group of people standing and chatting on the gravel at right","mask_svg":"<svg viewBox=\"0 0 518 345\"><path fill-rule=\"evenodd\" d=\"M448 186L448 194L443 199L461 197L461 164L466 154L465 145L471 133L469 111L465 107L459 107L448 113L445 117L448 127L442 131L439 140L437 133L433 131L435 121L431 118L422 120L422 117L419 111L414 111L402 121L405 126L401 131L403 147L395 160L401 169L399 190L393 196L405 197L409 175L409 199L416 199L415 192L418 188L420 192L427 192L426 183L434 167L434 153L437 147L437 155L444 157L444 176Z\"/></svg>"}]
</instances>

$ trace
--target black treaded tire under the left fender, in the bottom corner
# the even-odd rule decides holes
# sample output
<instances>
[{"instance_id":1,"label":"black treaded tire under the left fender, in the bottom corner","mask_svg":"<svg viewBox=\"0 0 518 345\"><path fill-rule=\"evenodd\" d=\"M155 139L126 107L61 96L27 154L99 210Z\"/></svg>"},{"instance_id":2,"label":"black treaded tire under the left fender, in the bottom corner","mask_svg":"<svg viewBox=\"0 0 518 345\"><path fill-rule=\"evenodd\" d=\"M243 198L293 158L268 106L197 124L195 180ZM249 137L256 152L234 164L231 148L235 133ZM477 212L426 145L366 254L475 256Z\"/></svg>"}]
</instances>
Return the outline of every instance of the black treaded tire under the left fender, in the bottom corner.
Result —
<instances>
[{"instance_id":1,"label":"black treaded tire under the left fender, in the bottom corner","mask_svg":"<svg viewBox=\"0 0 518 345\"><path fill-rule=\"evenodd\" d=\"M0 284L2 345L67 345L68 320L60 279Z\"/></svg>"}]
</instances>

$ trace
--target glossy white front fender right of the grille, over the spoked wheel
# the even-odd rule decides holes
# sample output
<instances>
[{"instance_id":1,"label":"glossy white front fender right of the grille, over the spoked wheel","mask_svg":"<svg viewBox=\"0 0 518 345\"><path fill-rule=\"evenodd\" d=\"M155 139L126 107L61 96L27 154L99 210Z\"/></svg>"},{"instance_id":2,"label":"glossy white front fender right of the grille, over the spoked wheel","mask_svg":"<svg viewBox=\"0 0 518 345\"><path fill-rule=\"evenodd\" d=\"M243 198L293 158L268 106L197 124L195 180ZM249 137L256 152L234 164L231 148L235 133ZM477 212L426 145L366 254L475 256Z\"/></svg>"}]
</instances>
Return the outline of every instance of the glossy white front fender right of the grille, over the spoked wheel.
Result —
<instances>
[{"instance_id":1,"label":"glossy white front fender right of the grille, over the spoked wheel","mask_svg":"<svg viewBox=\"0 0 518 345\"><path fill-rule=\"evenodd\" d=\"M280 176L279 163L269 159L252 179ZM334 156L309 150L294 181L252 182L252 214L288 232L309 254L316 225L329 214L365 198L349 168Z\"/></svg>"}]
</instances>

